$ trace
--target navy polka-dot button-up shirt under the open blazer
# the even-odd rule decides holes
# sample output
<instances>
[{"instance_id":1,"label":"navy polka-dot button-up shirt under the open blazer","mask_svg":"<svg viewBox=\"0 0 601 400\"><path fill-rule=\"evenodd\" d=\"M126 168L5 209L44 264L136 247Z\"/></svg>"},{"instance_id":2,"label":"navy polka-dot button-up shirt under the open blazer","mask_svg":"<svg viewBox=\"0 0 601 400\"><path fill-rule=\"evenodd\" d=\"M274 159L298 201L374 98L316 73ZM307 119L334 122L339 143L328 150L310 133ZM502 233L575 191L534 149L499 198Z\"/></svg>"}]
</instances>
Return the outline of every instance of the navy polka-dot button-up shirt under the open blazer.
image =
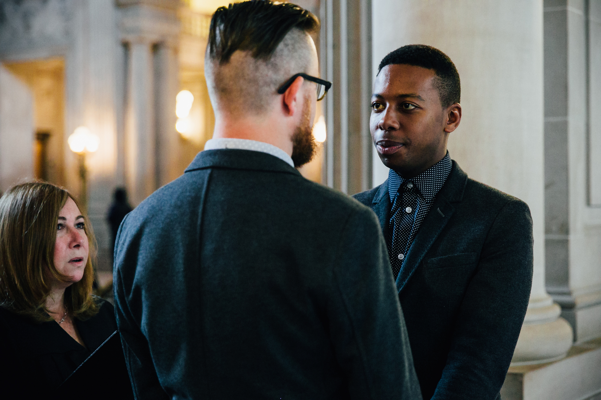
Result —
<instances>
[{"instance_id":1,"label":"navy polka-dot button-up shirt under the open blazer","mask_svg":"<svg viewBox=\"0 0 601 400\"><path fill-rule=\"evenodd\" d=\"M394 279L397 279L419 226L451 173L452 166L447 151L442 160L411 179L401 177L392 169L388 172L392 217L388 221L386 244Z\"/></svg>"}]
</instances>

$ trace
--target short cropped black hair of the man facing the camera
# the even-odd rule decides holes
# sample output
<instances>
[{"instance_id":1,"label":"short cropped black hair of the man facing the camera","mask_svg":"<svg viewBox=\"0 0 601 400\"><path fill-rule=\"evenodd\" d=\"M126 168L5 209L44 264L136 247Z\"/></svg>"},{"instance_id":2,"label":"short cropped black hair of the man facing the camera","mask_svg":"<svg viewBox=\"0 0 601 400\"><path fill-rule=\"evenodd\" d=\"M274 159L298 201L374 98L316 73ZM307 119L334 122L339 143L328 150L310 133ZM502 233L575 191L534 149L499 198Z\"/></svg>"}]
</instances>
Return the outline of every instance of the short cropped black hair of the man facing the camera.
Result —
<instances>
[{"instance_id":1,"label":"short cropped black hair of the man facing the camera","mask_svg":"<svg viewBox=\"0 0 601 400\"><path fill-rule=\"evenodd\" d=\"M377 68L380 73L383 67L391 64L407 64L434 70L438 77L435 83L441 98L441 105L448 107L461 100L461 82L459 72L453 61L441 50L426 44L407 44L407 46L388 53Z\"/></svg>"}]
</instances>

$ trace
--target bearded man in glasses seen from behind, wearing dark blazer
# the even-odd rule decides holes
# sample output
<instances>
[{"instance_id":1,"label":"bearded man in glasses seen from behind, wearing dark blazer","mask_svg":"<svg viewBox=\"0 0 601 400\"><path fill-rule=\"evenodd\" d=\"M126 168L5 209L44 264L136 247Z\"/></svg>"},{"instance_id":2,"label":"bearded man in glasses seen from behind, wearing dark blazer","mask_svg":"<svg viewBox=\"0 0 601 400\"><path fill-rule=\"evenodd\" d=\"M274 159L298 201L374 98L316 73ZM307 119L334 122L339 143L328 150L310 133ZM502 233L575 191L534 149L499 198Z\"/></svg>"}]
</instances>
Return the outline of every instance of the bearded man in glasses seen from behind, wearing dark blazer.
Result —
<instances>
[{"instance_id":1,"label":"bearded man in glasses seen from behind, wearing dark blazer","mask_svg":"<svg viewBox=\"0 0 601 400\"><path fill-rule=\"evenodd\" d=\"M376 216L294 168L331 85L317 28L289 3L213 15L213 139L117 238L138 399L421 399Z\"/></svg>"}]
</instances>

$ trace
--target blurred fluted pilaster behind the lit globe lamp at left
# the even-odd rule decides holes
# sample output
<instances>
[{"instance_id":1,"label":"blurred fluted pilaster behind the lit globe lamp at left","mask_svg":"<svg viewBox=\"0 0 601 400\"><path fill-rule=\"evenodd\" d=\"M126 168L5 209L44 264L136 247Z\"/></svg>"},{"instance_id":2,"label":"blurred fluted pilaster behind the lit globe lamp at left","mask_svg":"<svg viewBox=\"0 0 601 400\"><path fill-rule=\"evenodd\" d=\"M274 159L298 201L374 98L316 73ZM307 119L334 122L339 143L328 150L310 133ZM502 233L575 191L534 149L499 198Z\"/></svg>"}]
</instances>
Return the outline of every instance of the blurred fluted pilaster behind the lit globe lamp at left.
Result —
<instances>
[{"instance_id":1,"label":"blurred fluted pilaster behind the lit globe lamp at left","mask_svg":"<svg viewBox=\"0 0 601 400\"><path fill-rule=\"evenodd\" d=\"M47 2L50 4L52 2ZM65 184L84 195L80 186L79 161L69 150L67 137L79 126L87 126L100 139L98 150L85 158L87 166L88 217L98 241L97 268L111 270L111 234L106 224L106 211L117 185L117 71L115 57L118 32L115 32L114 0L72 2L73 29L65 60ZM39 16L37 20L45 20Z\"/></svg>"}]
</instances>

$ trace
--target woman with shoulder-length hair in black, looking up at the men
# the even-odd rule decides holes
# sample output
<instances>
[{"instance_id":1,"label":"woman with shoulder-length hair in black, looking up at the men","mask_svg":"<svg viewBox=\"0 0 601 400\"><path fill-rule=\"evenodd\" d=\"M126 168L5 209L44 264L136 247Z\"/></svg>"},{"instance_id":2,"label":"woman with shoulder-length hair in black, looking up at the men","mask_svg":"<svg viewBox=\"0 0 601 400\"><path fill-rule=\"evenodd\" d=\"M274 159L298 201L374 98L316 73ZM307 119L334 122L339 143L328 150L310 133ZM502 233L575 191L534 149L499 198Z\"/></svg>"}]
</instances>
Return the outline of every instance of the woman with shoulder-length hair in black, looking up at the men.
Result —
<instances>
[{"instance_id":1,"label":"woman with shoulder-length hair in black, looking up at the men","mask_svg":"<svg viewBox=\"0 0 601 400\"><path fill-rule=\"evenodd\" d=\"M0 397L52 392L117 330L113 306L92 294L95 253L67 190L25 183L0 198Z\"/></svg>"}]
</instances>

